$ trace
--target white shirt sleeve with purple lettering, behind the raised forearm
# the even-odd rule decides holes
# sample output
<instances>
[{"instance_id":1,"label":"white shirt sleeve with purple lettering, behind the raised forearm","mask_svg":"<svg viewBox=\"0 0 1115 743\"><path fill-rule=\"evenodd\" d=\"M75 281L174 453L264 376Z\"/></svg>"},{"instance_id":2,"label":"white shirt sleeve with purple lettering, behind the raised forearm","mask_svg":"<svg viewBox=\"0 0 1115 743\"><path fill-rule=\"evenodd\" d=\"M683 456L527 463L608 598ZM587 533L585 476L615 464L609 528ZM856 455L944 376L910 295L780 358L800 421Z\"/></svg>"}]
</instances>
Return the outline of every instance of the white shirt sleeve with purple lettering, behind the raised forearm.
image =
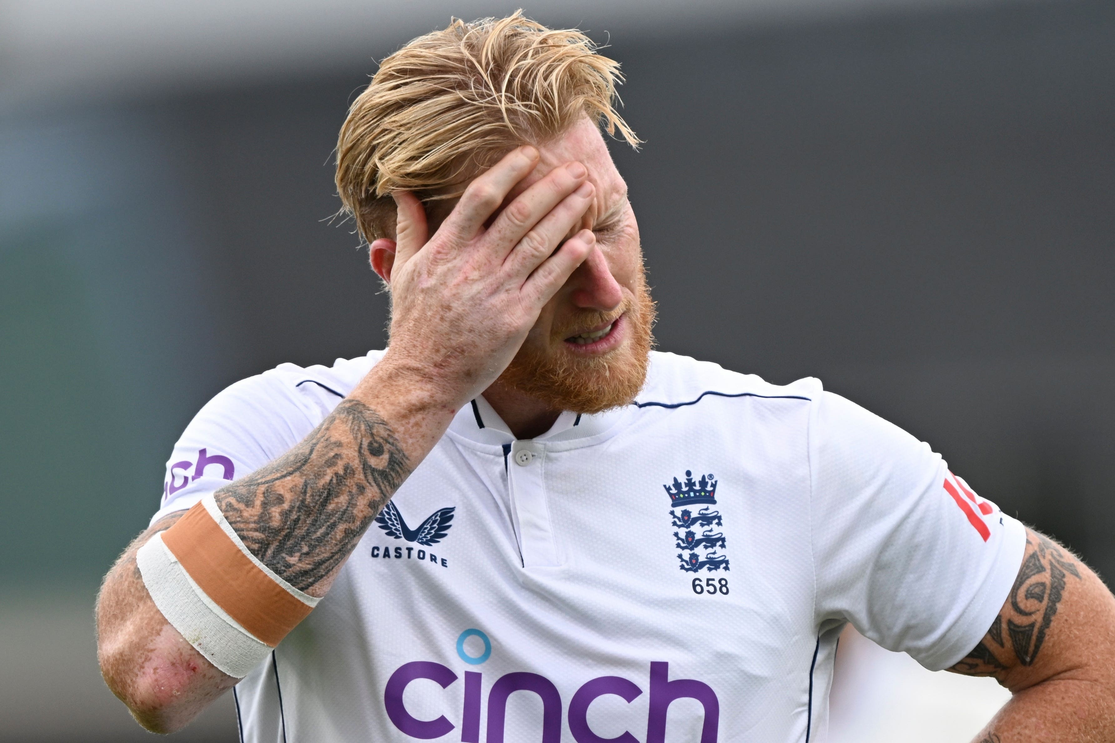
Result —
<instances>
[{"instance_id":1,"label":"white shirt sleeve with purple lettering, behind the raised forearm","mask_svg":"<svg viewBox=\"0 0 1115 743\"><path fill-rule=\"evenodd\" d=\"M186 426L166 462L163 498L152 524L255 471L302 440L324 416L297 388L271 373L217 393Z\"/></svg>"}]
</instances>

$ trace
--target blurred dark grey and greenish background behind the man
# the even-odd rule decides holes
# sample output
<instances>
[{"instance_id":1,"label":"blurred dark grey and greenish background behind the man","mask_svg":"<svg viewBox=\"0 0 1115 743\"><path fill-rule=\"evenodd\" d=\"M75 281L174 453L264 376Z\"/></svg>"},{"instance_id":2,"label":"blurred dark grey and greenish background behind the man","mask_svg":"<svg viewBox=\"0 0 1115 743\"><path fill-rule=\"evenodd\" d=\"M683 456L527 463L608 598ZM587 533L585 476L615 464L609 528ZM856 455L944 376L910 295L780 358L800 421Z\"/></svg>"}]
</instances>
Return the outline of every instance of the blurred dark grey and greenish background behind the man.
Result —
<instances>
[{"instance_id":1,"label":"blurred dark grey and greenish background behind the man","mask_svg":"<svg viewBox=\"0 0 1115 743\"><path fill-rule=\"evenodd\" d=\"M210 397L382 345L337 130L376 59L515 7L0 2L0 740L146 740L100 576ZM1115 3L525 11L629 77L659 348L820 377L1115 576Z\"/></svg>"}]
</instances>

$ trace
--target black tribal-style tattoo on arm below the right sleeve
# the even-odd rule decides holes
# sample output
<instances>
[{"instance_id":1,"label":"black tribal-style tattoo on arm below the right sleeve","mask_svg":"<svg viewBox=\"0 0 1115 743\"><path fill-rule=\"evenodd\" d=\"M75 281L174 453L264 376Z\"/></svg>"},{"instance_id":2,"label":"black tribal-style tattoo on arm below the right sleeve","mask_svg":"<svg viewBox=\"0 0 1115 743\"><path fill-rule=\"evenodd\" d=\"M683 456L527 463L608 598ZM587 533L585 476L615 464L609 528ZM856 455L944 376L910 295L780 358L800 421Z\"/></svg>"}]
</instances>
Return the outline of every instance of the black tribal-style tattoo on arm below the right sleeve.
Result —
<instances>
[{"instance_id":1,"label":"black tribal-style tattoo on arm below the right sleeve","mask_svg":"<svg viewBox=\"0 0 1115 743\"><path fill-rule=\"evenodd\" d=\"M1068 550L1039 534L1028 532L1026 557L1007 606L991 623L982 642L949 671L997 676L1016 662L1031 665L1057 616L1070 576L1080 579L1076 560Z\"/></svg>"}]
</instances>

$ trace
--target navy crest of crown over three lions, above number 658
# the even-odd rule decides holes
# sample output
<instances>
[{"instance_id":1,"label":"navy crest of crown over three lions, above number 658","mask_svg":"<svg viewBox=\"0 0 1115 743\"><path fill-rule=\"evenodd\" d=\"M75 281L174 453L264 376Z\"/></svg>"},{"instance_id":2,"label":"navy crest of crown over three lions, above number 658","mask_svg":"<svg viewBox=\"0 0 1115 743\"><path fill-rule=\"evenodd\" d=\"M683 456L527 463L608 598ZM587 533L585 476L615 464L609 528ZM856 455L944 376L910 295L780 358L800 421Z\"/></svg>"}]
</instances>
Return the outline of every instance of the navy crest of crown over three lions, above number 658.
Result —
<instances>
[{"instance_id":1,"label":"navy crest of crown over three lions, above number 658","mask_svg":"<svg viewBox=\"0 0 1115 743\"><path fill-rule=\"evenodd\" d=\"M694 480L691 470L686 470L685 482L673 478L672 485L663 485L670 497L670 517L677 531L673 532L680 569L687 573L700 570L727 570L728 557L724 555L728 542L716 527L724 526L716 506L716 480L711 475L701 475ZM700 506L697 512L694 507ZM688 507L688 508L683 508ZM710 578L711 580L711 578Z\"/></svg>"}]
</instances>

